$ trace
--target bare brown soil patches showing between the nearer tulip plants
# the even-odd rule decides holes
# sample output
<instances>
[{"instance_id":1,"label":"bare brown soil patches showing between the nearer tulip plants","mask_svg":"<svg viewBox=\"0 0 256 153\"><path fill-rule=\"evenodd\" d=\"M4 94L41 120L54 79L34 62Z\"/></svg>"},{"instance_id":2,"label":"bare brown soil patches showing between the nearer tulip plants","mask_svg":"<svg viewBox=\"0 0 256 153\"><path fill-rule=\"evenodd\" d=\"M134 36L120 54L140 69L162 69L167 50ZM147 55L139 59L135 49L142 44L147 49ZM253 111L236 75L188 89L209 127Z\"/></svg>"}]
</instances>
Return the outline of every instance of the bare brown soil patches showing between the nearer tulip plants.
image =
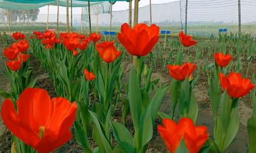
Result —
<instances>
[{"instance_id":1,"label":"bare brown soil patches showing between the nearer tulip plants","mask_svg":"<svg viewBox=\"0 0 256 153\"><path fill-rule=\"evenodd\" d=\"M3 44L3 40L0 38L0 44ZM4 91L8 91L8 81L3 76L2 71L4 71L4 59L2 59L2 50L3 47L0 48L0 89ZM188 55L188 54L187 54ZM185 61L188 61L188 59L185 58ZM36 82L36 87L40 87L42 89L46 89L51 97L56 96L54 87L52 85L51 79L48 77L49 75L42 71L40 69L40 62L35 59L33 56L30 59L30 66L33 69L33 78L38 78L38 82ZM129 68L131 68L131 59L126 59L124 61L124 77L123 82L127 82L128 76L129 76ZM204 63L204 61L202 61ZM243 65L246 65L246 62L243 63ZM256 71L256 63L255 61L252 62L252 71ZM246 73L243 71L243 74ZM250 73L252 75L252 73ZM170 82L170 77L168 75L168 71L163 69L163 63L161 61L157 62L156 68L154 68L154 72L152 74L152 79L154 78L160 78L161 83ZM198 84L196 84L196 87L194 89L196 94L196 99L198 101L198 105L200 106L198 113L198 120L196 124L198 125L206 125L209 129L209 133L212 136L214 122L212 118L212 112L211 112L211 105L209 101L209 97L207 95L208 85L207 85L207 77L203 74L200 75L200 80L198 81ZM3 98L0 96L0 106L3 102ZM164 101L161 105L160 112L170 113L171 108L171 100L168 94L166 94L166 97L164 97ZM241 117L241 124L239 128L239 132L237 133L236 139L230 147L228 148L228 152L246 152L246 145L248 143L248 134L246 133L246 123L249 117L252 115L252 105L250 101L250 97L246 96L241 99L239 102L240 106L240 117ZM1 111L1 108L0 108ZM116 110L115 116L113 119L118 120L119 122L122 122L122 105L118 105L118 110ZM166 150L166 147L164 146L163 141L159 137L157 133L157 125L161 124L160 119L156 119L156 124L154 126L154 136L151 140L151 142L148 145L148 153L158 153L158 152L168 152ZM131 115L128 115L127 117L127 128L132 131L132 120ZM74 129L72 128L72 133L74 133ZM5 128L3 124L3 120L0 116L0 153L6 153L10 152L10 138L11 134L10 132ZM92 145L95 146L95 142L91 140ZM114 142L115 143L115 142ZM77 144L76 138L73 138L60 147L59 149L55 150L54 153L71 153L71 152L83 152L83 149L81 148L81 145Z\"/></svg>"}]
</instances>

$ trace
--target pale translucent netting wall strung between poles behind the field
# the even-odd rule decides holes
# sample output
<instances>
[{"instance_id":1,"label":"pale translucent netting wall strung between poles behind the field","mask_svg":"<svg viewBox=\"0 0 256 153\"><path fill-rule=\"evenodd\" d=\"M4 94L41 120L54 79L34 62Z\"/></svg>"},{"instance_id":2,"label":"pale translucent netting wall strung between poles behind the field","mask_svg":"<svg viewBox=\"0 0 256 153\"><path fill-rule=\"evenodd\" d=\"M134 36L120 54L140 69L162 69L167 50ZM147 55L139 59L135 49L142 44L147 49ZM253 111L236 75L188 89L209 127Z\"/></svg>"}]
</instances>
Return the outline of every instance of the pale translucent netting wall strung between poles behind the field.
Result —
<instances>
[{"instance_id":1,"label":"pale translucent netting wall strung between poles behind the field","mask_svg":"<svg viewBox=\"0 0 256 153\"><path fill-rule=\"evenodd\" d=\"M78 0L74 2L78 2ZM79 2L87 3L87 1ZM11 3L11 1L9 1L9 3ZM65 0L63 3L65 3ZM26 7L25 5L26 4L24 4L24 7ZM22 6L20 6L20 8L21 7ZM50 7L56 6L51 5ZM97 29L98 31L110 30L110 7L108 2L95 5L93 5L92 2L91 18L93 31L96 31ZM73 30L88 31L88 8L84 5L83 13L81 12L82 8L79 8L79 10L79 13L74 11L72 15ZM32 29L45 30L47 14L39 13L38 15L33 15L33 13L31 13L22 16L19 15L18 10L15 11L16 14L11 15L11 31L19 31L20 29L23 31L31 31ZM57 10L55 12L51 11L49 14L49 28L51 29L56 29L56 13ZM187 14L189 34L211 36L212 33L218 34L221 29L226 29L227 33L238 32L237 0L189 0ZM243 33L251 33L253 36L256 36L255 14L256 1L241 0L241 27ZM129 10L113 11L112 15L113 31L119 31L120 25L124 24L124 22L129 22ZM159 25L161 30L171 31L171 33L179 33L179 31L185 27L185 19L186 0L164 4L152 4L152 23ZM71 18L69 20L71 20ZM1 12L0 21L0 31L8 31L8 20L6 15ZM59 21L60 28L64 31L67 22L66 15L60 15ZM139 9L139 22L150 24L149 6L141 7Z\"/></svg>"}]
</instances>

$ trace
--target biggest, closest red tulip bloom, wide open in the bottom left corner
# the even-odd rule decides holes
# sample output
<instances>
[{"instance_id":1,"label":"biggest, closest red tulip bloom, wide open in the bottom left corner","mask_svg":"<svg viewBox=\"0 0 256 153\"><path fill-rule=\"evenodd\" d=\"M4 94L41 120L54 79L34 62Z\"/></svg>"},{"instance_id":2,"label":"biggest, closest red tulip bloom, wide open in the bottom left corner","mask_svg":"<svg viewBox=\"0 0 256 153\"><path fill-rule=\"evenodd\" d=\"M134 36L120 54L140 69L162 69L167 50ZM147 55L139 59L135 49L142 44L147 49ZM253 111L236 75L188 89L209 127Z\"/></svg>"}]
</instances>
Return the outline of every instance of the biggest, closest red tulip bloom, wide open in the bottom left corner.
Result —
<instances>
[{"instance_id":1,"label":"biggest, closest red tulip bloom, wide open in the bottom left corner","mask_svg":"<svg viewBox=\"0 0 256 153\"><path fill-rule=\"evenodd\" d=\"M44 109L42 109L44 108ZM25 89L15 110L10 99L2 106L6 127L38 152L52 152L71 139L69 129L76 119L76 103L50 98L44 89Z\"/></svg>"}]
</instances>

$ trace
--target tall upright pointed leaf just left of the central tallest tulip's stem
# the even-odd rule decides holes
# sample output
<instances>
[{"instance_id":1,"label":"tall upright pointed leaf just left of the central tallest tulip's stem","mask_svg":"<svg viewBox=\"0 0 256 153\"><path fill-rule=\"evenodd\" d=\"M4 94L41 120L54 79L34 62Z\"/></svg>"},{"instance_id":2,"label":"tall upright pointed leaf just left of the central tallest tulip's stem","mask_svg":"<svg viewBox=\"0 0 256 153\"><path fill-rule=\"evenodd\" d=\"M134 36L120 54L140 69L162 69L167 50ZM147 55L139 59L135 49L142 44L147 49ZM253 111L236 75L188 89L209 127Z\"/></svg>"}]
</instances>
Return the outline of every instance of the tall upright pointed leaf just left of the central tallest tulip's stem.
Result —
<instances>
[{"instance_id":1,"label":"tall upright pointed leaf just left of the central tallest tulip's stem","mask_svg":"<svg viewBox=\"0 0 256 153\"><path fill-rule=\"evenodd\" d=\"M138 131L142 99L139 80L133 68L131 69L129 77L128 99L131 108L132 122L134 124L135 131Z\"/></svg>"}]
</instances>

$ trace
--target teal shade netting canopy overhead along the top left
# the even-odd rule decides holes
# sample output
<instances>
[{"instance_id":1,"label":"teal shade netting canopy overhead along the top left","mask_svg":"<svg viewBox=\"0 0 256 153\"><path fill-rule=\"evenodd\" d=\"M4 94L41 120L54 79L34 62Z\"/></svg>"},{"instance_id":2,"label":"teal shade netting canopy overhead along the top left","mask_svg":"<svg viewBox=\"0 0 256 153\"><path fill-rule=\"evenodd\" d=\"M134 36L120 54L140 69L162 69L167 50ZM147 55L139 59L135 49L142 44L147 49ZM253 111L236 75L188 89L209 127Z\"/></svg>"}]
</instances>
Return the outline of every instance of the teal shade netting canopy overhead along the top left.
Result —
<instances>
[{"instance_id":1,"label":"teal shade netting canopy overhead along the top left","mask_svg":"<svg viewBox=\"0 0 256 153\"><path fill-rule=\"evenodd\" d=\"M115 3L116 1L127 0L90 0L90 6L101 4L102 2ZM129 1L129 0L128 0ZM67 6L66 0L0 0L0 8L6 10L32 10L35 8L41 8L46 5ZM71 6L71 0L68 0L68 6ZM88 6L88 0L72 0L72 7L86 7Z\"/></svg>"}]
</instances>

